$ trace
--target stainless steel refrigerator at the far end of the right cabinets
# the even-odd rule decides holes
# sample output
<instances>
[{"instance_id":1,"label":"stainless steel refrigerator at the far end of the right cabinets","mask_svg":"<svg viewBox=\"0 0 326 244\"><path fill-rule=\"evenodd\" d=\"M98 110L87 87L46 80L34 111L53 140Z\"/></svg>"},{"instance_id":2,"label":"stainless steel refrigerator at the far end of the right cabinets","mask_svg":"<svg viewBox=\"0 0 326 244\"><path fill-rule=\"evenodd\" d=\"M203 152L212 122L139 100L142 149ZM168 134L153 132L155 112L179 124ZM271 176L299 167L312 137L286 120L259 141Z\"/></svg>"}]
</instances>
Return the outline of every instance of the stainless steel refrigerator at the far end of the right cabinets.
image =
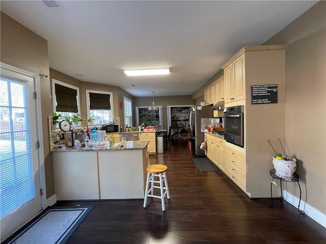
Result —
<instances>
[{"instance_id":1,"label":"stainless steel refrigerator at the far end of the right cabinets","mask_svg":"<svg viewBox=\"0 0 326 244\"><path fill-rule=\"evenodd\" d=\"M190 139L192 143L192 153L197 157L205 156L205 150L200 149L204 142L204 132L200 132L200 119L213 117L212 106L193 106L189 116Z\"/></svg>"}]
</instances>

